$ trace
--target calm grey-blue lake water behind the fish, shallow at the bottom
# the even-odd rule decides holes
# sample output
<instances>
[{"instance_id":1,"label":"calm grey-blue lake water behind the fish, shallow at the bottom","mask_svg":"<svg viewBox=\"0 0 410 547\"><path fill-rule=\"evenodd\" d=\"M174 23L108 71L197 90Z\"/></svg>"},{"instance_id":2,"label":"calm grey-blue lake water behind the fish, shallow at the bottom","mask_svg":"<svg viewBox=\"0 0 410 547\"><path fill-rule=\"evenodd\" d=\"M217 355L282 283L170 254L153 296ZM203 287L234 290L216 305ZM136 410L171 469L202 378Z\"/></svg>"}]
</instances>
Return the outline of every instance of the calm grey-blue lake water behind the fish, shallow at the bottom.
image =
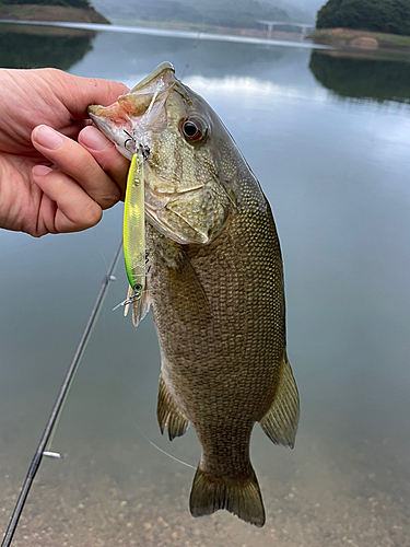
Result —
<instances>
[{"instance_id":1,"label":"calm grey-blue lake water behind the fish, shallow at the bottom","mask_svg":"<svg viewBox=\"0 0 410 547\"><path fill-rule=\"evenodd\" d=\"M0 25L1 67L52 66L133 86L160 62L234 136L272 206L285 267L293 451L251 440L267 524L195 520L200 446L156 423L160 350L113 307L120 261L14 545L410 545L410 63L290 45ZM121 237L0 231L0 526ZM156 446L155 446L156 445ZM160 449L160 450L159 450ZM165 451L173 457L164 454ZM178 462L177 459L184 463Z\"/></svg>"}]
</instances>

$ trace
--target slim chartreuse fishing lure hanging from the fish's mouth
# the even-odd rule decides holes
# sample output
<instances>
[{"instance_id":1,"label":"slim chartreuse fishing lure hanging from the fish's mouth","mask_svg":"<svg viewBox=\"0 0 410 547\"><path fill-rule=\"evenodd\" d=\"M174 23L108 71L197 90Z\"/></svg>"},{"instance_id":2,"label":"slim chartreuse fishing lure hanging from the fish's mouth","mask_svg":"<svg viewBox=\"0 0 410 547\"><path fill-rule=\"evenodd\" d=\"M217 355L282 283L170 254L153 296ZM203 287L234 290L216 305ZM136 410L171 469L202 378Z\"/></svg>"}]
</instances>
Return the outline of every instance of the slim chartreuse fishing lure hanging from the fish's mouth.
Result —
<instances>
[{"instance_id":1,"label":"slim chartreuse fishing lure hanging from the fish's mouth","mask_svg":"<svg viewBox=\"0 0 410 547\"><path fill-rule=\"evenodd\" d=\"M124 208L124 256L133 298L145 288L145 212L143 158L136 153L128 172Z\"/></svg>"}]
</instances>

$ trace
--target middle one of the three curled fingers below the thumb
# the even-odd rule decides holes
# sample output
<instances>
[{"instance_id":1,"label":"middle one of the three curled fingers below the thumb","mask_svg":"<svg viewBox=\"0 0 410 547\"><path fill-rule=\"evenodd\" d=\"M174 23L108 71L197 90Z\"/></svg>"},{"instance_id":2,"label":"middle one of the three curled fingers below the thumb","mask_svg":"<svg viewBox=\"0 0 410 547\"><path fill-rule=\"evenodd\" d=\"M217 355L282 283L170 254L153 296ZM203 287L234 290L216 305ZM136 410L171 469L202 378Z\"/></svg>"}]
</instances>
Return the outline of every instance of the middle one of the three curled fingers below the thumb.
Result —
<instances>
[{"instance_id":1,"label":"middle one of the three curled fingers below the thumb","mask_svg":"<svg viewBox=\"0 0 410 547\"><path fill-rule=\"evenodd\" d=\"M48 126L35 127L32 142L38 152L77 181L103 209L113 207L120 199L118 185L78 142Z\"/></svg>"}]
</instances>

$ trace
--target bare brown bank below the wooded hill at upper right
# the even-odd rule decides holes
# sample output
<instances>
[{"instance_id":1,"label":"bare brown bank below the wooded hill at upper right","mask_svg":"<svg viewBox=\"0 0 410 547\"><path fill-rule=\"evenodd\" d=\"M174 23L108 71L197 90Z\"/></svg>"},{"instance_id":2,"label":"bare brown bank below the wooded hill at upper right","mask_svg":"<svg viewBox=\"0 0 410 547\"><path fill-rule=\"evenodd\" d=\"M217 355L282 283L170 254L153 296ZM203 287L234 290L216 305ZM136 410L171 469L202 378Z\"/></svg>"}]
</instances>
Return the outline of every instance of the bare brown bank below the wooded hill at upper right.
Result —
<instances>
[{"instance_id":1,"label":"bare brown bank below the wooded hill at upper right","mask_svg":"<svg viewBox=\"0 0 410 547\"><path fill-rule=\"evenodd\" d=\"M316 28L307 36L315 44L333 46L337 49L410 51L410 36L373 33L352 28Z\"/></svg>"}]
</instances>

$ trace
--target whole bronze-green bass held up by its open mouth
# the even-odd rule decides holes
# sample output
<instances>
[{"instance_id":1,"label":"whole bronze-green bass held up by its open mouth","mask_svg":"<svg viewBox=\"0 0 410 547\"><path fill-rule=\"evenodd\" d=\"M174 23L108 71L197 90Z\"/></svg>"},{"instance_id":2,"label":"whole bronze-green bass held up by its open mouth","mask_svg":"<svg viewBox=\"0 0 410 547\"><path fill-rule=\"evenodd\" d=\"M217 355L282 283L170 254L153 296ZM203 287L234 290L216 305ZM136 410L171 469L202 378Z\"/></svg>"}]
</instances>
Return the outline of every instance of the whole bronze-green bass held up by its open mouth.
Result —
<instances>
[{"instance_id":1,"label":"whole bronze-green bass held up by its open mouth","mask_svg":"<svg viewBox=\"0 0 410 547\"><path fill-rule=\"evenodd\" d=\"M121 154L144 158L147 281L132 318L153 314L161 432L173 440L191 423L202 447L190 512L224 509L263 526L251 431L258 422L292 449L300 418L270 205L216 113L169 62L89 115Z\"/></svg>"}]
</instances>

